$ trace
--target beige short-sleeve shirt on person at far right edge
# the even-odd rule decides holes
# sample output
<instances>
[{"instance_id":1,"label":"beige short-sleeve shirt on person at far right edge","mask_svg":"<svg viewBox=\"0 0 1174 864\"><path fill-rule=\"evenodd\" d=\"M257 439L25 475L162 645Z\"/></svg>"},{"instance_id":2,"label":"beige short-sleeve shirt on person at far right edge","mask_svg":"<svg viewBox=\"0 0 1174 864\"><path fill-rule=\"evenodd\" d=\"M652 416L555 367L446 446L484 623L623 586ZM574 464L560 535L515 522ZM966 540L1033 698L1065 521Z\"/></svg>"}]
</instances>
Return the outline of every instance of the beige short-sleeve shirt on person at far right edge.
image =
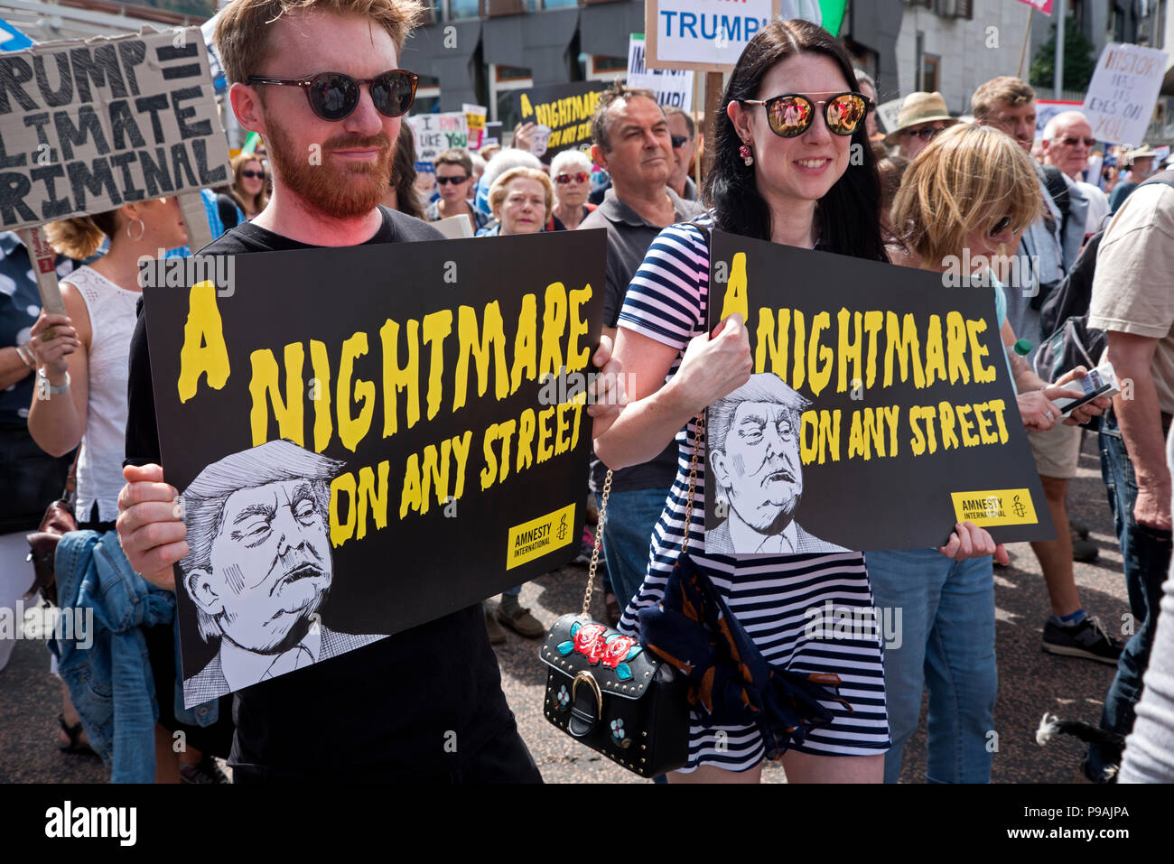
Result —
<instances>
[{"instance_id":1,"label":"beige short-sleeve shirt on person at far right edge","mask_svg":"<svg viewBox=\"0 0 1174 864\"><path fill-rule=\"evenodd\" d=\"M1088 325L1159 340L1158 403L1174 413L1174 188L1142 185L1113 217L1097 254Z\"/></svg>"}]
</instances>

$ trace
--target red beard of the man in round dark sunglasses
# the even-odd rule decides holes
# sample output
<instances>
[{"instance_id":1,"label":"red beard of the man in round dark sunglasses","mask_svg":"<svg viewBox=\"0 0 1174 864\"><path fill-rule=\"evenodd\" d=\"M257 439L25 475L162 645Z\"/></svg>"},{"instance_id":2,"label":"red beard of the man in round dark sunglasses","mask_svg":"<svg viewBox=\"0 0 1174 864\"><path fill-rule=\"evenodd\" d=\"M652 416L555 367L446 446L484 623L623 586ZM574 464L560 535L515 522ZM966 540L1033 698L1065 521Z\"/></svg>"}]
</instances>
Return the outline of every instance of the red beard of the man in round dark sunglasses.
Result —
<instances>
[{"instance_id":1,"label":"red beard of the man in round dark sunglasses","mask_svg":"<svg viewBox=\"0 0 1174 864\"><path fill-rule=\"evenodd\" d=\"M383 201L391 185L396 150L385 133L371 136L343 133L328 139L322 144L321 164L311 164L312 154L309 150L298 151L279 123L270 121L265 137L274 173L282 185L333 218L365 216ZM380 148L375 162L331 158L336 150L367 147Z\"/></svg>"}]
</instances>

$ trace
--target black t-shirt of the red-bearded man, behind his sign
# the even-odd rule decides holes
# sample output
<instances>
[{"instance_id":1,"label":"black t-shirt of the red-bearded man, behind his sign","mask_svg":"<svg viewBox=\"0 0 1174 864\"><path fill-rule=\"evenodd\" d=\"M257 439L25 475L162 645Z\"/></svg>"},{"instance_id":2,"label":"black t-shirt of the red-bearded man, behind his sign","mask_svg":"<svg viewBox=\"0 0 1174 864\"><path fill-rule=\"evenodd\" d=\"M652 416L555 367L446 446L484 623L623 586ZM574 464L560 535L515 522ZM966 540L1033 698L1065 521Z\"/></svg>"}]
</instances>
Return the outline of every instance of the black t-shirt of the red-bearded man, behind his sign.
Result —
<instances>
[{"instance_id":1,"label":"black t-shirt of the red-bearded man, behind his sign","mask_svg":"<svg viewBox=\"0 0 1174 864\"><path fill-rule=\"evenodd\" d=\"M419 220L380 210L383 227L367 243L443 238ZM245 222L201 251L311 248ZM130 342L128 391L126 464L157 464L142 315ZM429 574L409 578L426 580ZM269 781L441 778L460 770L498 734L515 734L480 605L241 690L234 718L230 764L242 778Z\"/></svg>"}]
</instances>

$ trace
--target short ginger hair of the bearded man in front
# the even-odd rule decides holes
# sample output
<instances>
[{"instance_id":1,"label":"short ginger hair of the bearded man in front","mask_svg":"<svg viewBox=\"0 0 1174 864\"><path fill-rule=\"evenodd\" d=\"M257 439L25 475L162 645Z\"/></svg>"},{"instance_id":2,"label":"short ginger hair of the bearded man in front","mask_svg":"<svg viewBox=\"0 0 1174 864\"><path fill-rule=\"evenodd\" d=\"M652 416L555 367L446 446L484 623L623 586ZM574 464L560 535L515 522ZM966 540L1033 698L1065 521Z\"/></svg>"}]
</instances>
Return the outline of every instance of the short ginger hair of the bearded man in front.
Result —
<instances>
[{"instance_id":1,"label":"short ginger hair of the bearded man in front","mask_svg":"<svg viewBox=\"0 0 1174 864\"><path fill-rule=\"evenodd\" d=\"M424 7L419 0L232 0L221 11L215 34L229 82L244 83L250 75L261 75L270 53L269 26L282 15L301 12L369 18L387 31L398 54L423 19Z\"/></svg>"}]
</instances>

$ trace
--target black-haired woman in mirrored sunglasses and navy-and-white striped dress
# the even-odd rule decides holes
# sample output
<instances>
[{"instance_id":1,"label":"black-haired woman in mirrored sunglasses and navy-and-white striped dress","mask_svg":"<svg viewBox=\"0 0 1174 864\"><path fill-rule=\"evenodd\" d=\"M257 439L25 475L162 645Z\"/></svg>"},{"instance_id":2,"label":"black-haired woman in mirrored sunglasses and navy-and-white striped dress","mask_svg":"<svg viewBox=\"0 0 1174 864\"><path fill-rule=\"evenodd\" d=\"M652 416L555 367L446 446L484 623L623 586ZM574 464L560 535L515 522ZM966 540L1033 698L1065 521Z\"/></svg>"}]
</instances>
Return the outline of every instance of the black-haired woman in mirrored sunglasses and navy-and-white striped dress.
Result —
<instances>
[{"instance_id":1,"label":"black-haired woman in mirrored sunglasses and navy-and-white striped dress","mask_svg":"<svg viewBox=\"0 0 1174 864\"><path fill-rule=\"evenodd\" d=\"M807 21L776 20L738 59L715 122L714 164L706 180L708 217L664 229L628 288L613 360L635 392L609 418L596 418L595 452L612 468L653 458L675 436L677 477L652 538L639 594L620 628L664 595L684 536L694 419L749 379L749 339L741 316L708 333L708 231L888 261L880 236L876 162L864 131L868 100L844 47ZM802 94L802 95L798 95ZM853 149L859 157L851 158ZM666 380L667 378L667 380ZM683 427L683 428L682 428ZM794 434L792 428L778 430ZM841 701L821 698L830 723L782 752L790 782L880 782L890 745L879 640L808 637L810 608L871 609L859 552L737 556L703 552L704 443L699 447L689 558L745 627L762 657L797 674L838 676ZM964 525L943 554L991 554L986 532ZM835 680L835 679L825 679ZM850 706L850 707L849 707ZM767 749L755 725L716 725L694 713L689 761L670 779L757 782Z\"/></svg>"}]
</instances>

